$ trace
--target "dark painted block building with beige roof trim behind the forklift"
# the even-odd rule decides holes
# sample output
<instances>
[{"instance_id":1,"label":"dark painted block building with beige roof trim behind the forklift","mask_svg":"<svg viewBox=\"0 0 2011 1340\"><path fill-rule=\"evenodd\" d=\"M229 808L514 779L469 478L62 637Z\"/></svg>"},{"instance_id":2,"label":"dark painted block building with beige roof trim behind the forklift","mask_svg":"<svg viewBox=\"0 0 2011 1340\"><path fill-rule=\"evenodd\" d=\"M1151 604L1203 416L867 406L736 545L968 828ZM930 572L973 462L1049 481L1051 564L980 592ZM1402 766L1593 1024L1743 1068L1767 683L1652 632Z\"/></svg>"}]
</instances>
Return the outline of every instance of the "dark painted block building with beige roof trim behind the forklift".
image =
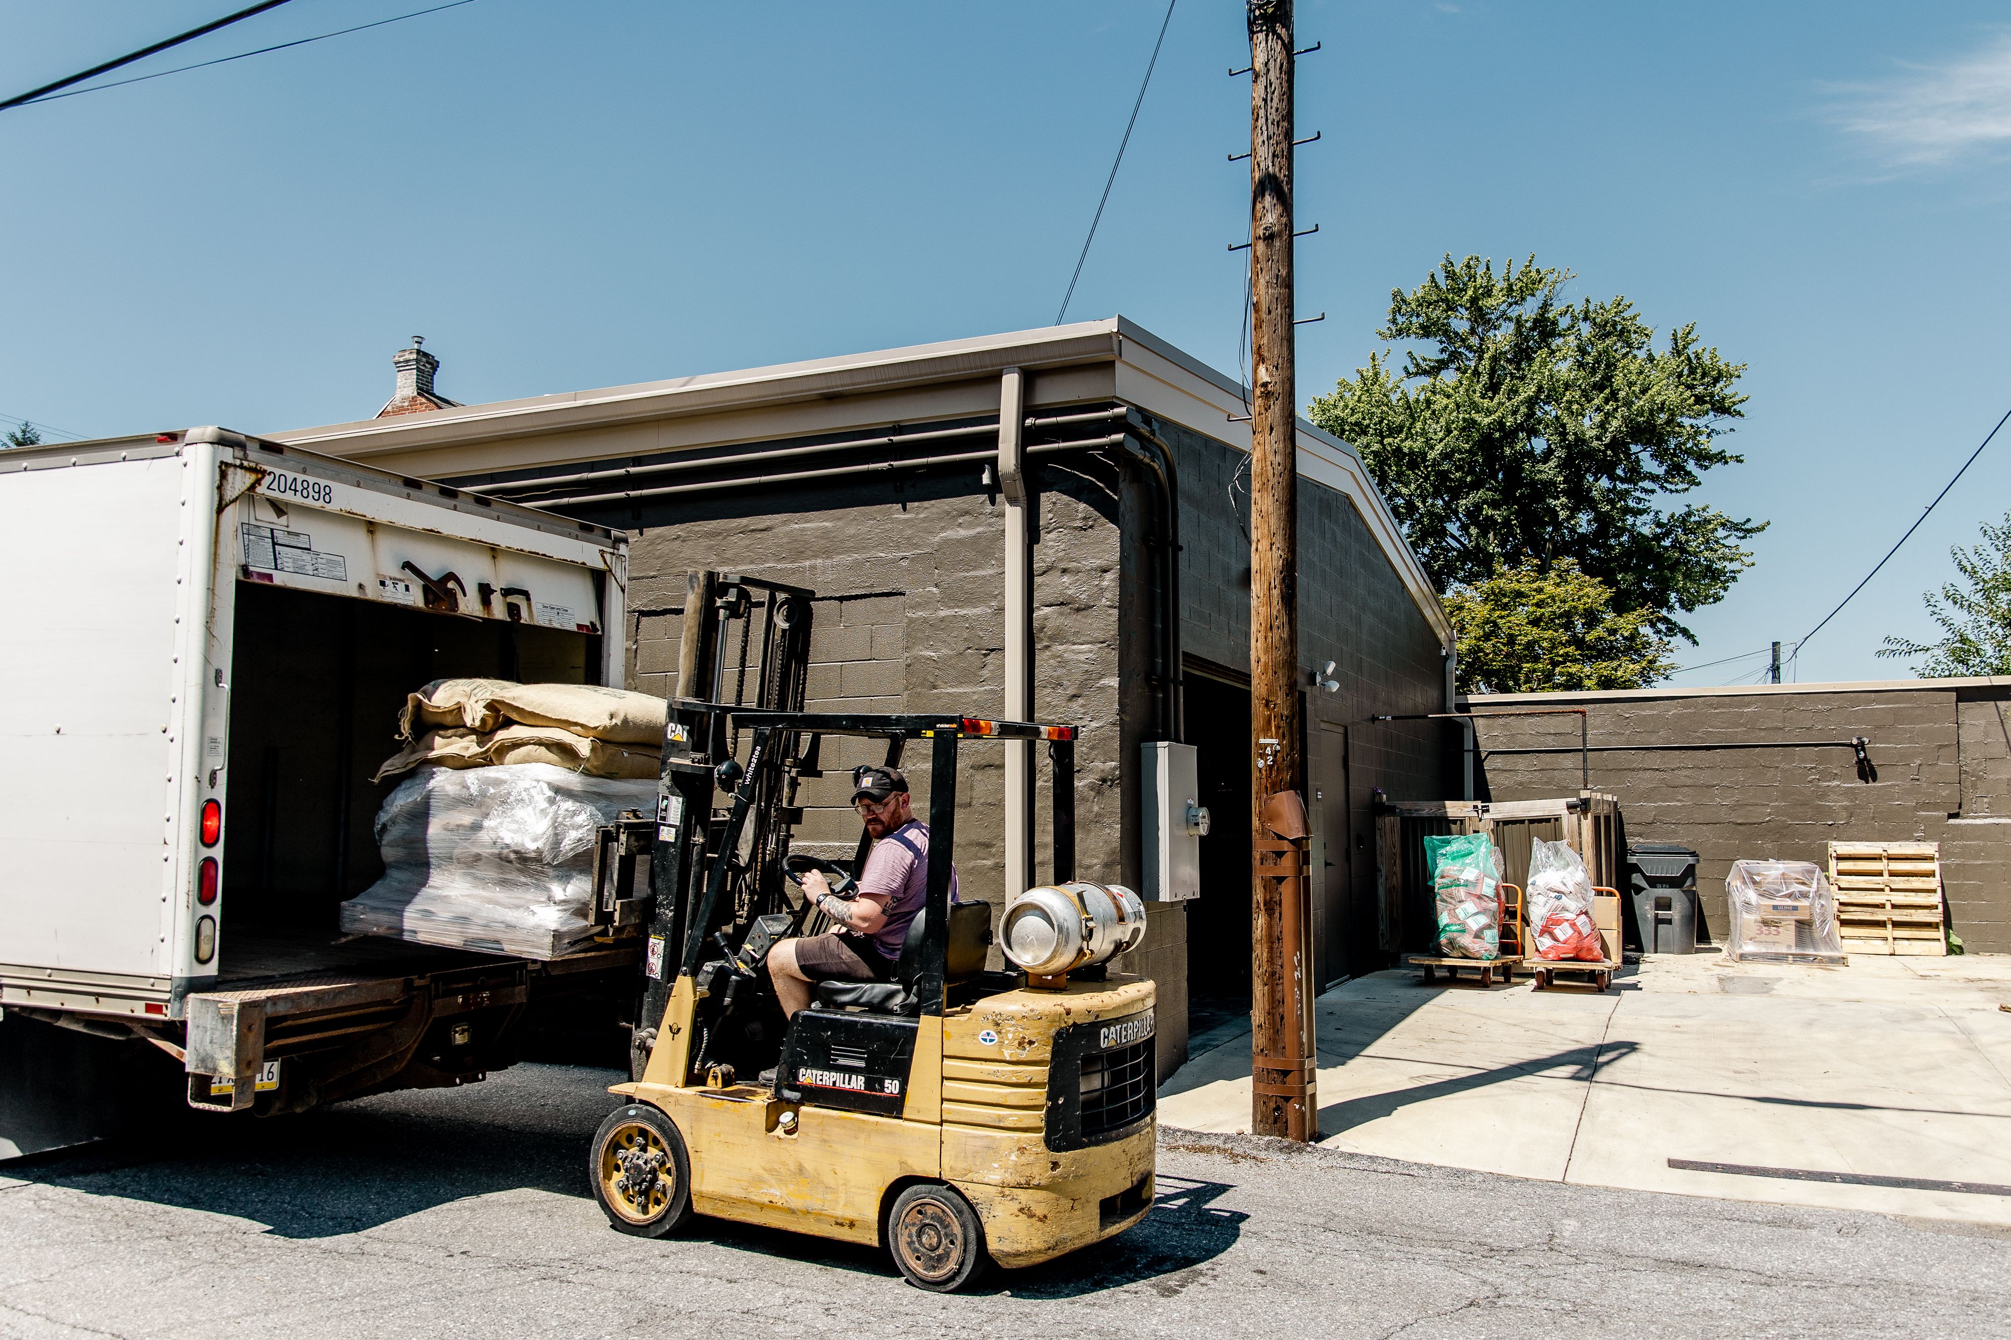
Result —
<instances>
[{"instance_id":1,"label":"dark painted block building with beige roof trim behind the forklift","mask_svg":"<svg viewBox=\"0 0 2011 1340\"><path fill-rule=\"evenodd\" d=\"M629 532L629 687L676 689L688 571L808 587L810 709L1080 725L1078 870L1134 888L1140 745L1193 743L1215 814L1201 896L1148 904L1126 966L1158 980L1162 1073L1184 1059L1191 994L1247 1002L1249 426L1233 378L1122 317L475 406L432 392L430 352L400 358L396 412L276 440ZM1450 705L1452 633L1353 450L1301 422L1299 472L1327 984L1382 966L1376 796L1456 794L1442 723L1369 721ZM1317 687L1329 661L1337 691ZM1044 878L1038 761L969 753L961 880L997 902ZM845 796L808 804L800 840L849 848Z\"/></svg>"}]
</instances>

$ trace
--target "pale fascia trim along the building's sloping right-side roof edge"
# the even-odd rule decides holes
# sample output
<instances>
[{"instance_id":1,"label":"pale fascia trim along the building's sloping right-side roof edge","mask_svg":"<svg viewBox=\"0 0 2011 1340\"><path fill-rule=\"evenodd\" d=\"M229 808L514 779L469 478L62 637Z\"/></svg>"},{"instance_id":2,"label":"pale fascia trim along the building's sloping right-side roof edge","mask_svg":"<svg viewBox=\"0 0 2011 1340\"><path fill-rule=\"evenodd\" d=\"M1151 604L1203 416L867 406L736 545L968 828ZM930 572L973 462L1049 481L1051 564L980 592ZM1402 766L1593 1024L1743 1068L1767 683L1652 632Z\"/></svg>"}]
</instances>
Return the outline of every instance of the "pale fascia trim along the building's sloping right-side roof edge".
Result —
<instances>
[{"instance_id":1,"label":"pale fascia trim along the building's sloping right-side roof edge","mask_svg":"<svg viewBox=\"0 0 2011 1340\"><path fill-rule=\"evenodd\" d=\"M1134 376L1124 376L1126 372ZM1243 388L1124 317L1118 317L1118 398L1245 454L1251 450L1251 426L1231 422L1243 414ZM1384 502L1355 448L1301 418L1299 474L1355 504L1355 512L1367 522L1369 534L1410 591L1410 599L1438 633L1440 645L1450 651L1452 621L1446 619L1438 591L1398 530L1390 504Z\"/></svg>"}]
</instances>

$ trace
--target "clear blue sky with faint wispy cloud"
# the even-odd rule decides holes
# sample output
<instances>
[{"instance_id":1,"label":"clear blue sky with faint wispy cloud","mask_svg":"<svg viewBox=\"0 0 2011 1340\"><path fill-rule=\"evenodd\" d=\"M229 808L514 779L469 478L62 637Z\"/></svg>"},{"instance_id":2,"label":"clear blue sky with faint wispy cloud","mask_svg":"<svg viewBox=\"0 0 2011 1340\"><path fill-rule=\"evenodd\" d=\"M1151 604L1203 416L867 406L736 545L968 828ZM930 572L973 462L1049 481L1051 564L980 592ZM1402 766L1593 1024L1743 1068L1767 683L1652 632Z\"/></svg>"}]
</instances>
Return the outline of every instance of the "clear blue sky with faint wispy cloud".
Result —
<instances>
[{"instance_id":1,"label":"clear blue sky with faint wispy cloud","mask_svg":"<svg viewBox=\"0 0 2011 1340\"><path fill-rule=\"evenodd\" d=\"M123 74L426 2L294 0ZM0 0L0 88L229 8ZM1229 370L1241 12L1174 10L1070 305ZM414 331L479 402L1048 323L1162 14L475 0L0 113L0 414L360 418ZM1808 633L2011 408L2005 6L1301 0L1299 34L1307 398L1446 251L1750 366L1748 464L1701 496L1774 524L1681 663ZM1931 635L1921 591L2007 508L2011 430L1794 673L1904 675L1880 639Z\"/></svg>"}]
</instances>

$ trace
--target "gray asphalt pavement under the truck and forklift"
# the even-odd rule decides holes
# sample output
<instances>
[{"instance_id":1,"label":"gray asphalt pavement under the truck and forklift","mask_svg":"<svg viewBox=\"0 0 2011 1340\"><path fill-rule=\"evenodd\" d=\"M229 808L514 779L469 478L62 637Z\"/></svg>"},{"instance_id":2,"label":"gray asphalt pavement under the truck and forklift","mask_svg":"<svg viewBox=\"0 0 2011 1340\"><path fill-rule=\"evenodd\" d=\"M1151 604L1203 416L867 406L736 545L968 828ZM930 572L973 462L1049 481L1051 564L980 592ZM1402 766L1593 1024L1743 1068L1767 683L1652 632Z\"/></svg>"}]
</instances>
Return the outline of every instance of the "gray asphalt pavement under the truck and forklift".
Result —
<instances>
[{"instance_id":1,"label":"gray asphalt pavement under the truck and forklift","mask_svg":"<svg viewBox=\"0 0 2011 1340\"><path fill-rule=\"evenodd\" d=\"M609 1071L523 1065L0 1165L0 1336L2005 1336L2011 1230L1160 1135L1130 1234L975 1294L700 1219L611 1232Z\"/></svg>"}]
</instances>

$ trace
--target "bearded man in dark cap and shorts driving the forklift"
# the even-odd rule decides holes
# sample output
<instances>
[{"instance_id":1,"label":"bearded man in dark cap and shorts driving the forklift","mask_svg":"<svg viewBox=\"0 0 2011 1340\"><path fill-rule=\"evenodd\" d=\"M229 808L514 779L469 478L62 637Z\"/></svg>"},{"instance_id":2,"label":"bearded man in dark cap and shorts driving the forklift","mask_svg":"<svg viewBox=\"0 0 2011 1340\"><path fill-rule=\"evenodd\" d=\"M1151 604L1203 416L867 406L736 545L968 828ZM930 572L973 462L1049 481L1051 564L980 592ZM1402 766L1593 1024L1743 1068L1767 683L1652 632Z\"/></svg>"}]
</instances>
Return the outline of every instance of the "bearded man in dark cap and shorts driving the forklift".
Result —
<instances>
[{"instance_id":1,"label":"bearded man in dark cap and shorts driving the forklift","mask_svg":"<svg viewBox=\"0 0 2011 1340\"><path fill-rule=\"evenodd\" d=\"M810 1004L816 982L891 978L907 926L927 902L929 826L915 818L907 773L871 763L855 767L853 810L873 838L859 890L839 898L822 872L802 872L802 896L831 918L831 930L776 940L768 950L768 976L786 1019ZM949 900L957 902L955 866L949 868Z\"/></svg>"}]
</instances>

